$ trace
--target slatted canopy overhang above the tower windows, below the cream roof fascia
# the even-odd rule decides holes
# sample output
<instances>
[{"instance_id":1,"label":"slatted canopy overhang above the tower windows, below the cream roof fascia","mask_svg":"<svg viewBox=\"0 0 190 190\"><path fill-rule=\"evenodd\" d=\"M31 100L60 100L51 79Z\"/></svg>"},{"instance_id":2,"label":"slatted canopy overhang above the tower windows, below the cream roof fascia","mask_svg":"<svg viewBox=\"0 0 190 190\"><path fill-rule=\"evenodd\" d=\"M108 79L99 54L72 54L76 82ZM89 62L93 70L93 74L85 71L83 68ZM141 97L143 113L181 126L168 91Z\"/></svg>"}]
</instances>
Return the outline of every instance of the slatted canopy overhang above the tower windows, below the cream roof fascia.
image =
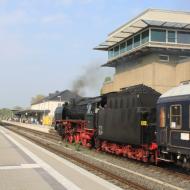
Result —
<instances>
[{"instance_id":1,"label":"slatted canopy overhang above the tower windows, below the cream roof fascia","mask_svg":"<svg viewBox=\"0 0 190 190\"><path fill-rule=\"evenodd\" d=\"M101 43L99 46L95 47L95 50L107 51L110 47L116 45L117 43L123 41L124 39L138 33L139 31L147 27L163 27L163 28L176 28L176 29L190 29L190 23L177 23L159 20L146 20L140 19L130 25L127 25L123 30L114 32L114 34L109 35L108 39Z\"/></svg>"}]
</instances>

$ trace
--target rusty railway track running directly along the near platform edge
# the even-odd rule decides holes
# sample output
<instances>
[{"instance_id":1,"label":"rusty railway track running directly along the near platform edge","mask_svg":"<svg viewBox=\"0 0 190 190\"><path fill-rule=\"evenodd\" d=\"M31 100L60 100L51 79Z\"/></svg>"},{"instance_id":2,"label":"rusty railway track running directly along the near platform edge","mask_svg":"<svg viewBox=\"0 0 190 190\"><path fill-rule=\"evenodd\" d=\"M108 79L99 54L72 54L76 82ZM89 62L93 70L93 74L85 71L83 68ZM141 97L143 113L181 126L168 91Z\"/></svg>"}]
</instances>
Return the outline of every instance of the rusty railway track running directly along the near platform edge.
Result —
<instances>
[{"instance_id":1,"label":"rusty railway track running directly along the near platform edge","mask_svg":"<svg viewBox=\"0 0 190 190\"><path fill-rule=\"evenodd\" d=\"M101 167L98 167L92 163L88 163L88 162L84 161L83 159L80 159L78 157L75 157L74 155L64 152L60 147L56 146L58 143L55 143L55 140L60 140L60 138L55 138L55 137L52 138L53 134L44 134L43 132L40 132L40 131L36 131L33 129L19 128L17 126L9 126L9 127L6 127L6 129L9 129L12 132L17 133L17 134L27 138L28 140L40 145L41 147L43 147L53 153L56 153L57 155L79 165L80 167L90 171L91 173L94 173L97 176L100 176L101 178L104 178L104 179L120 186L123 189L148 190L148 188L146 188L146 187L143 187L141 185L138 185L136 183L128 181L125 178L122 178L114 173L106 171L105 169L103 169ZM53 141L52 141L52 139L53 139Z\"/></svg>"}]
</instances>

